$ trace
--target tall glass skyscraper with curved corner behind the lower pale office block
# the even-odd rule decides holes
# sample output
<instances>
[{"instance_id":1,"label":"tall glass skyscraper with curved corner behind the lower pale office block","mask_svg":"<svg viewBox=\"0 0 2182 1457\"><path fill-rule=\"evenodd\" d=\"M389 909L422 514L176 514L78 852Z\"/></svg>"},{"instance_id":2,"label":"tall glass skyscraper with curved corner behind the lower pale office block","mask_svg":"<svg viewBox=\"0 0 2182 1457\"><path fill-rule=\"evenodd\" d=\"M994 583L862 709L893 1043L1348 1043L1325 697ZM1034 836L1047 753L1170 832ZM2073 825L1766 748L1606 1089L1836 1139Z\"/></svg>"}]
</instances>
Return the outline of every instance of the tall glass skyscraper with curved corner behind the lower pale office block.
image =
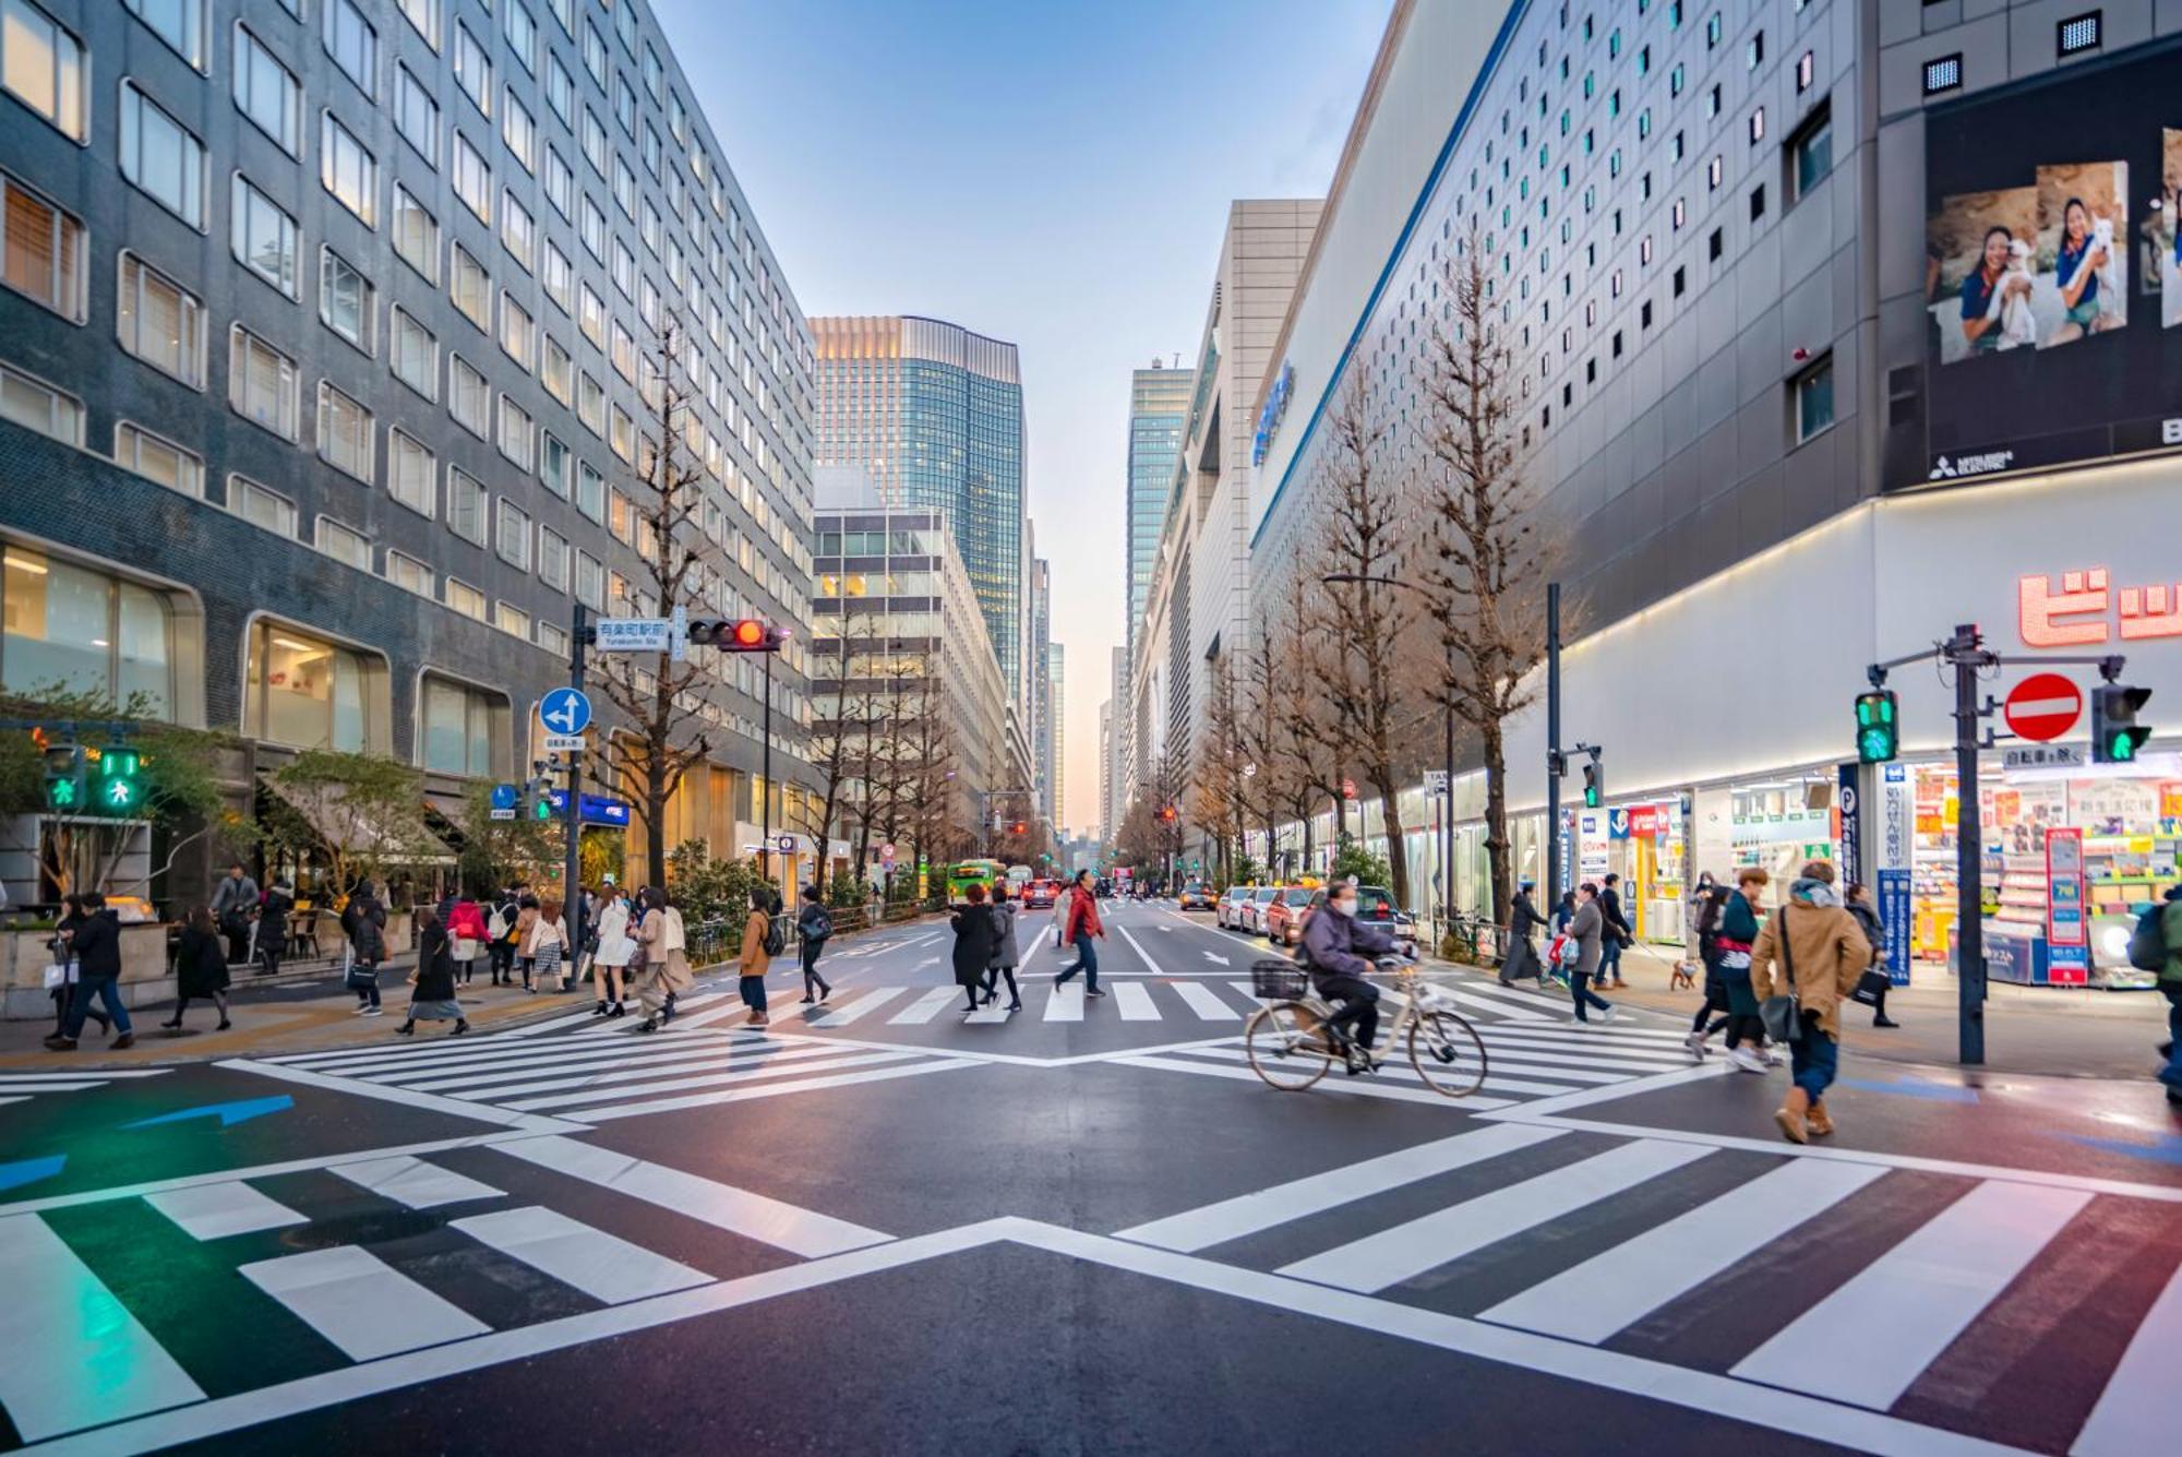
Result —
<instances>
[{"instance_id":1,"label":"tall glass skyscraper with curved corner behind the lower pale office block","mask_svg":"<svg viewBox=\"0 0 2182 1457\"><path fill-rule=\"evenodd\" d=\"M888 506L936 506L969 567L1008 694L1023 659L1023 382L1015 345L938 318L812 318L816 465L860 467Z\"/></svg>"}]
</instances>

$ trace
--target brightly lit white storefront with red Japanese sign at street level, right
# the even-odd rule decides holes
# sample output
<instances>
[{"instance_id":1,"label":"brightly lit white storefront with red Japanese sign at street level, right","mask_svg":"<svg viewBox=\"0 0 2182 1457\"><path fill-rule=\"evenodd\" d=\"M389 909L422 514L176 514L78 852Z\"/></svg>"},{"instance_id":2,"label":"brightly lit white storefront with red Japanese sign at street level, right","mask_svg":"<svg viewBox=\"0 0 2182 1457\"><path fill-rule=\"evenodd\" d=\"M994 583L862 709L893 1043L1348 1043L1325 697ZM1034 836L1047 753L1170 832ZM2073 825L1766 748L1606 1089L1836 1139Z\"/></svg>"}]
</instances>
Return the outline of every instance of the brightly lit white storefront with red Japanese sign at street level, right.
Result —
<instances>
[{"instance_id":1,"label":"brightly lit white storefront with red Japanese sign at street level, right","mask_svg":"<svg viewBox=\"0 0 2182 1457\"><path fill-rule=\"evenodd\" d=\"M1593 633L1562 654L1562 742L1604 748L1606 803L1562 807L1564 868L1619 872L1639 936L1678 944L1700 870L1765 866L1778 894L1805 859L1833 859L1879 896L1894 979L1942 971L1957 916L1951 681L1931 663L1887 678L1890 766L1855 763L1853 705L1870 663L1975 622L1986 648L2023 659L1990 672L1981 698L2060 672L2088 705L2097 670L2040 657L2123 654L2121 681L2151 689L2136 763L2086 763L2088 707L2055 742L2073 755L2021 763L2040 746L2003 739L1979 759L1990 973L2141 984L2130 907L2182 879L2182 561L2171 530L2145 530L2171 523L2178 499L2171 458L1883 497ZM1545 761L1543 718L1514 724L1510 763ZM1477 779L1455 787L1468 907L1488 901L1484 829L1462 822L1479 814ZM1510 796L1519 870L1543 883L1543 783L1525 768Z\"/></svg>"}]
</instances>

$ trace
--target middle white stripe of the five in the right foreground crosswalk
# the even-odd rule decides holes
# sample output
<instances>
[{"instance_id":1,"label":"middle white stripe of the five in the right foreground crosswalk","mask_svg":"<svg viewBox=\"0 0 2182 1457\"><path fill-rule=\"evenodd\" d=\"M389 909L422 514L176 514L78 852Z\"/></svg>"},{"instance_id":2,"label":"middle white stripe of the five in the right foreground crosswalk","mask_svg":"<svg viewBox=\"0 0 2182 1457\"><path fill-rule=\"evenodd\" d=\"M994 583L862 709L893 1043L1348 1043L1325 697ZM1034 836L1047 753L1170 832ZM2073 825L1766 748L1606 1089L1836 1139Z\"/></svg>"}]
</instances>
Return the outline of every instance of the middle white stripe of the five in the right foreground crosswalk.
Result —
<instances>
[{"instance_id":1,"label":"middle white stripe of the five in the right foreground crosswalk","mask_svg":"<svg viewBox=\"0 0 2182 1457\"><path fill-rule=\"evenodd\" d=\"M1885 1169L1791 1158L1778 1169L1501 1300L1477 1320L1604 1341L1687 1296Z\"/></svg>"}]
</instances>

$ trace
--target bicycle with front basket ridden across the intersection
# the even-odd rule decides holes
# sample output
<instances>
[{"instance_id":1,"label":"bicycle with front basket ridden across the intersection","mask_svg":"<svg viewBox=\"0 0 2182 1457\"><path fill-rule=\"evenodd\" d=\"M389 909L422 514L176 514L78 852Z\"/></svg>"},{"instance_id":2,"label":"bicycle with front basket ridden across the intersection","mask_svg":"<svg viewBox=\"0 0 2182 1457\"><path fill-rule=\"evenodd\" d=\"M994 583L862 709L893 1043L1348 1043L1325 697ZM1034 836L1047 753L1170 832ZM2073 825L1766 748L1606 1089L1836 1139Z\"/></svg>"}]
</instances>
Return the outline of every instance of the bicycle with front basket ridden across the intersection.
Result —
<instances>
[{"instance_id":1,"label":"bicycle with front basket ridden across the intersection","mask_svg":"<svg viewBox=\"0 0 2182 1457\"><path fill-rule=\"evenodd\" d=\"M1466 1016L1436 988L1425 984L1410 958L1381 958L1381 973L1392 971L1403 1001L1388 1025L1386 1047L1407 1043L1410 1067L1440 1097L1468 1097L1486 1080L1486 1045ZM1318 999L1309 977L1294 962L1261 960L1250 964L1250 990L1266 1003L1244 1025L1244 1051L1266 1086L1300 1093L1327 1075L1333 1058L1346 1056L1351 1043L1324 1023L1333 1008ZM1335 1045L1340 1038L1340 1045ZM1372 1071L1388 1058L1364 1049Z\"/></svg>"}]
</instances>

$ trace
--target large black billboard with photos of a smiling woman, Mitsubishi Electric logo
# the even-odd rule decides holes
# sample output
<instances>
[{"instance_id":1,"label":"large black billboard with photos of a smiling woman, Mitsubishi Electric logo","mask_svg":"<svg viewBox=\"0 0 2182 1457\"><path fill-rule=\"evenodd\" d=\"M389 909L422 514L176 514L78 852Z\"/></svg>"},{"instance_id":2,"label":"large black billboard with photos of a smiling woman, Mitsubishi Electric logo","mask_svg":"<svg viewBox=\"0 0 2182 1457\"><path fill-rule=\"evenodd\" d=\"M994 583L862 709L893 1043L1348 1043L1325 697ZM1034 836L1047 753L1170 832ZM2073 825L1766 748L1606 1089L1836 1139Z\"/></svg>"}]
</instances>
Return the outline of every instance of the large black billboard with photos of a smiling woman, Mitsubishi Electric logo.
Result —
<instances>
[{"instance_id":1,"label":"large black billboard with photos of a smiling woman, Mitsubishi Electric logo","mask_svg":"<svg viewBox=\"0 0 2182 1457\"><path fill-rule=\"evenodd\" d=\"M1922 445L1892 486L2182 449L2182 48L1935 107Z\"/></svg>"}]
</instances>

